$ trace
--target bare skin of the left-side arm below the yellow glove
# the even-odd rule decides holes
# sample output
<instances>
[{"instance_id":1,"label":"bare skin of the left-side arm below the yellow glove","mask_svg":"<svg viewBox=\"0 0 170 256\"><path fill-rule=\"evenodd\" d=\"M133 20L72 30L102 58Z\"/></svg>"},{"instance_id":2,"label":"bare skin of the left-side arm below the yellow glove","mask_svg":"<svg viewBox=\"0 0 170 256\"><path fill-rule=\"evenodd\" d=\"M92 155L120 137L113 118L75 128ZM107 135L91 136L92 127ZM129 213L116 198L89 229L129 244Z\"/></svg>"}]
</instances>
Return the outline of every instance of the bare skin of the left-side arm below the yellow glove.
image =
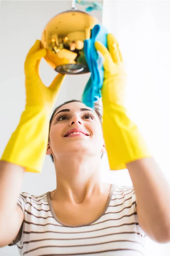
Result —
<instances>
[{"instance_id":1,"label":"bare skin of the left-side arm below the yellow glove","mask_svg":"<svg viewBox=\"0 0 170 256\"><path fill-rule=\"evenodd\" d=\"M17 199L23 184L25 168L0 161L0 247L13 241L23 222Z\"/></svg>"}]
</instances>

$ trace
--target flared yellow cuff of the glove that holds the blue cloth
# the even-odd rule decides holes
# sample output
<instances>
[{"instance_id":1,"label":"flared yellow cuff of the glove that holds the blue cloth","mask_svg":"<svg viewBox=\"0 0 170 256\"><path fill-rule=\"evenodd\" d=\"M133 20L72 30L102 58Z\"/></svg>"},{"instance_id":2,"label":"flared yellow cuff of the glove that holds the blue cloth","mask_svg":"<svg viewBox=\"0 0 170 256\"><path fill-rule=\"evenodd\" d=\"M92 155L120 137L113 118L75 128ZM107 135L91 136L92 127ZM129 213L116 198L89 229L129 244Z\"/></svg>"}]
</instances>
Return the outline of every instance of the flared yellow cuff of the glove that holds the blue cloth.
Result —
<instances>
[{"instance_id":1,"label":"flared yellow cuff of the glove that holds the blue cloth","mask_svg":"<svg viewBox=\"0 0 170 256\"><path fill-rule=\"evenodd\" d=\"M151 156L142 134L126 112L119 105L104 108L103 134L111 170L126 169L126 163Z\"/></svg>"}]
</instances>

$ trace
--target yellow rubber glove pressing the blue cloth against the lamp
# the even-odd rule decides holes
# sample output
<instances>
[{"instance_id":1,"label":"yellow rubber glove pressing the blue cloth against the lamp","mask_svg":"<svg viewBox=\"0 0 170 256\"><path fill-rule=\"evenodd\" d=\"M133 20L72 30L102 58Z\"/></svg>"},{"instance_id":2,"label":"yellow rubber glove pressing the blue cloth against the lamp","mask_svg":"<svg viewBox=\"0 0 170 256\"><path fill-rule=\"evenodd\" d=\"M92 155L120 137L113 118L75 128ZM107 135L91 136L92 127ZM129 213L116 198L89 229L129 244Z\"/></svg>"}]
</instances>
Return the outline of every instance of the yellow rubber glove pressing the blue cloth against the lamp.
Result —
<instances>
[{"instance_id":1,"label":"yellow rubber glove pressing the blue cloth against the lamp","mask_svg":"<svg viewBox=\"0 0 170 256\"><path fill-rule=\"evenodd\" d=\"M100 42L95 48L104 57L102 85L103 134L111 170L125 169L126 163L149 157L150 152L137 126L125 109L126 74L119 45L107 35L108 49Z\"/></svg>"}]
</instances>

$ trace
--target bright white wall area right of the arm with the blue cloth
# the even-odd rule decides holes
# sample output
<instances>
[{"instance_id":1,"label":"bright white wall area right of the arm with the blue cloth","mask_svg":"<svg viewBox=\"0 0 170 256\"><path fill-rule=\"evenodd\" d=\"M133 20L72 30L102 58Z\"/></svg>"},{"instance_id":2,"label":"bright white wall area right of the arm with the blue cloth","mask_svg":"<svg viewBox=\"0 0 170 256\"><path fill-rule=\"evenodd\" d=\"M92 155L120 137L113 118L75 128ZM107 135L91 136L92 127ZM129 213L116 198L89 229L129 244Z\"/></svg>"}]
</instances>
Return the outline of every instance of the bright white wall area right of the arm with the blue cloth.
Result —
<instances>
[{"instance_id":1,"label":"bright white wall area right of the arm with the blue cloth","mask_svg":"<svg viewBox=\"0 0 170 256\"><path fill-rule=\"evenodd\" d=\"M103 24L120 45L127 107L170 182L170 1L105 0ZM169 256L170 244L146 241L147 256Z\"/></svg>"}]
</instances>

